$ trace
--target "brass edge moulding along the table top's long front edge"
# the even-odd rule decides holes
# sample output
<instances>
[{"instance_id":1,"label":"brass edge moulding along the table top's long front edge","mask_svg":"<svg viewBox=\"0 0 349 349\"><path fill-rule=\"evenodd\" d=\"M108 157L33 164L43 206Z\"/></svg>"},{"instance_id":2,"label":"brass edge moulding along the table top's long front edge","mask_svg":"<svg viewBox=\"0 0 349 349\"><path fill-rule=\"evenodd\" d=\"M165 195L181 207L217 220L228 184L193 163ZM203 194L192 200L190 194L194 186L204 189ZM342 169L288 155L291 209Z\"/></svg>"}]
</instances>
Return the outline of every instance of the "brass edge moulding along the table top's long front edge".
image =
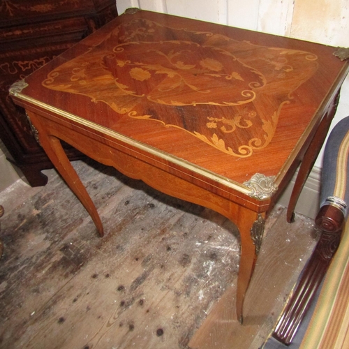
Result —
<instances>
[{"instance_id":1,"label":"brass edge moulding along the table top's long front edge","mask_svg":"<svg viewBox=\"0 0 349 349\"><path fill-rule=\"evenodd\" d=\"M239 184L238 182L232 181L228 178L222 177L218 174L215 174L214 172L211 172L209 170L205 170L203 168L200 168L199 166L189 163L188 161L185 161L184 159L177 158L177 156L170 155L168 153L165 153L164 151L158 150L154 147L151 147L147 144L144 144L142 142L138 142L137 140L133 140L132 138L128 138L126 135L122 135L121 133L117 133L115 131L110 130L110 128L106 128L104 126L95 124L94 122L91 122L86 119L82 119L81 117L78 117L77 115L71 114L69 112L66 112L64 110L61 110L57 107L52 107L52 105L47 105L43 102L37 101L35 98L31 98L25 94L20 93L20 86L10 88L10 94L20 98L22 101L26 101L28 103L31 103L31 105L36 105L37 107L42 108L43 110L48 110L54 114L58 114L61 117L64 117L66 119L75 121L77 124L87 126L89 128L94 129L95 131L101 132L105 135L108 135L114 139L120 140L121 142L124 142L126 144L130 144L131 146L140 149L146 153L158 156L159 158L162 158L165 161L168 161L170 163L174 163L175 165L179 165L182 168L186 168L187 170L190 170L192 172L198 173L202 175L203 177L206 177L208 179L213 179L214 181L218 182L219 184L223 184L224 186L228 188L232 188L235 191L238 191L239 193L243 193L244 195L248 195L251 198L255 198L251 195L252 189L249 186L246 186L246 184Z\"/></svg>"}]
</instances>

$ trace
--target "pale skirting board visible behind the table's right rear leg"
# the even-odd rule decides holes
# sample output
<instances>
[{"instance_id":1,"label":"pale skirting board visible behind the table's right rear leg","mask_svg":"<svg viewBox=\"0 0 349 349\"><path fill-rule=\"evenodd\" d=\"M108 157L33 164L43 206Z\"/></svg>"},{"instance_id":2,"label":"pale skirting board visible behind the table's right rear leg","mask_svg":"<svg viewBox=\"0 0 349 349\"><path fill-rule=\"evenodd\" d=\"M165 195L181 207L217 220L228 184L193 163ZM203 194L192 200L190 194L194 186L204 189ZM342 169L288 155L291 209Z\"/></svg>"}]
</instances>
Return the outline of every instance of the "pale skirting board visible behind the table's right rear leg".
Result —
<instances>
[{"instance_id":1,"label":"pale skirting board visible behind the table's right rear leg","mask_svg":"<svg viewBox=\"0 0 349 349\"><path fill-rule=\"evenodd\" d=\"M295 185L295 179L297 177L298 171L292 177L290 184L285 188L285 191L279 198L278 203L285 207L288 206L290 200L290 195L292 193L292 188ZM321 168L313 167L311 173L309 174L306 184L302 190L299 200L296 205L295 211L298 214L303 214L304 216L315 218L318 214L320 205L320 188L321 188Z\"/></svg>"}]
</instances>

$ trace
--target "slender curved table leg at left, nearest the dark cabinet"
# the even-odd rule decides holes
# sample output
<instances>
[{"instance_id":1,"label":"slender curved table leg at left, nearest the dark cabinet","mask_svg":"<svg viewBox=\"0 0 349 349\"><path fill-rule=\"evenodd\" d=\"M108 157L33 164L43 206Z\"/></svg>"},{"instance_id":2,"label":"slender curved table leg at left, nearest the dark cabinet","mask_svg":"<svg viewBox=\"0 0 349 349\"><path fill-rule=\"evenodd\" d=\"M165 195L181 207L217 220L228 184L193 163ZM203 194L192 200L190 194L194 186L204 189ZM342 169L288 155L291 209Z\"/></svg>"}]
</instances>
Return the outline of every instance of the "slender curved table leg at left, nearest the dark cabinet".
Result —
<instances>
[{"instance_id":1,"label":"slender curved table leg at left, nearest the dark cabinet","mask_svg":"<svg viewBox=\"0 0 349 349\"><path fill-rule=\"evenodd\" d=\"M59 174L61 174L61 177L66 181L69 188L82 202L84 208L87 209L92 220L96 224L99 235L103 237L104 233L101 218L99 217L94 202L91 200L89 193L87 193L84 184L82 184L82 181L66 156L66 152L61 146L61 141L59 138L50 135L50 133L47 132L46 128L40 124L40 117L37 114L27 111L27 115L31 124L36 129L38 141L45 150L47 156L50 158Z\"/></svg>"}]
</instances>

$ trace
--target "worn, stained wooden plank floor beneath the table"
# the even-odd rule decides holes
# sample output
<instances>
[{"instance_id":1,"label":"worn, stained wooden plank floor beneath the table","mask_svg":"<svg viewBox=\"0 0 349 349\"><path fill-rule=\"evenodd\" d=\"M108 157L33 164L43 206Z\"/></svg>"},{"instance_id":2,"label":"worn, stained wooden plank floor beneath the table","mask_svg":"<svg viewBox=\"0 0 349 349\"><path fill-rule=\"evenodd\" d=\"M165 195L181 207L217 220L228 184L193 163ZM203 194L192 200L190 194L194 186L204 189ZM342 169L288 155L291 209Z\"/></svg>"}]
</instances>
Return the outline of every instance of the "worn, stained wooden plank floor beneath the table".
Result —
<instances>
[{"instance_id":1,"label":"worn, stained wooden plank floor beneath the table","mask_svg":"<svg viewBox=\"0 0 349 349\"><path fill-rule=\"evenodd\" d=\"M0 348L259 348L315 244L277 206L235 316L239 234L214 211L93 161L73 163L106 235L54 170L0 193Z\"/></svg>"}]
</instances>

